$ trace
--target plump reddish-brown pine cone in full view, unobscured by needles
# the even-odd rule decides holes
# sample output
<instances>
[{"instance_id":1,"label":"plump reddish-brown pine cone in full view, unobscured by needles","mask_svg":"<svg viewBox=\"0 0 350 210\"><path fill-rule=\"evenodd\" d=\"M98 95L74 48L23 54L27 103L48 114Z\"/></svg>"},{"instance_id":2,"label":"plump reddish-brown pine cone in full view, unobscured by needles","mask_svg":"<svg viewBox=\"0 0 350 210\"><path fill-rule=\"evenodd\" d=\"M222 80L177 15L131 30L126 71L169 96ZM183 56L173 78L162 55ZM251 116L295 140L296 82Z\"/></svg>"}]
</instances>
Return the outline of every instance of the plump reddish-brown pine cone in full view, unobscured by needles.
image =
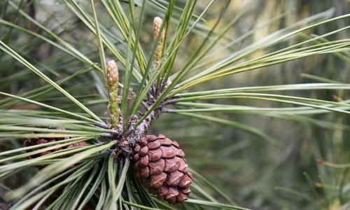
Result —
<instances>
[{"instance_id":1,"label":"plump reddish-brown pine cone in full view, unobscured by needles","mask_svg":"<svg viewBox=\"0 0 350 210\"><path fill-rule=\"evenodd\" d=\"M135 176L150 193L170 204L181 203L188 199L193 179L184 157L176 141L162 134L146 136L134 148Z\"/></svg>"}]
</instances>

